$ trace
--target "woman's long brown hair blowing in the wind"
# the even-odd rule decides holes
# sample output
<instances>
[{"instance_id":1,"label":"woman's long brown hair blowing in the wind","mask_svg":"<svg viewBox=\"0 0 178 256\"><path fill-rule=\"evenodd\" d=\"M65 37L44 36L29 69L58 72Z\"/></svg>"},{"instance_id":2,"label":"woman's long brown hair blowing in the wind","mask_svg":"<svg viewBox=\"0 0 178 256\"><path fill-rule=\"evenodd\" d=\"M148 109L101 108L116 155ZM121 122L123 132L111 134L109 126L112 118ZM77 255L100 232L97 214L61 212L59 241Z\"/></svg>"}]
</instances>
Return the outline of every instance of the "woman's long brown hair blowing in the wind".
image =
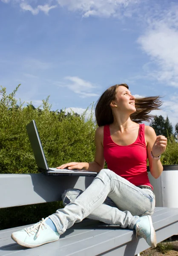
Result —
<instances>
[{"instance_id":1,"label":"woman's long brown hair blowing in the wind","mask_svg":"<svg viewBox=\"0 0 178 256\"><path fill-rule=\"evenodd\" d=\"M98 126L108 125L114 122L110 103L115 99L116 89L121 85L129 89L127 84L115 84L109 87L98 99L95 108ZM162 105L160 98L161 96L153 96L135 99L136 111L130 115L131 120L136 123L150 121L154 115L149 115L149 113L152 110L158 110Z\"/></svg>"}]
</instances>

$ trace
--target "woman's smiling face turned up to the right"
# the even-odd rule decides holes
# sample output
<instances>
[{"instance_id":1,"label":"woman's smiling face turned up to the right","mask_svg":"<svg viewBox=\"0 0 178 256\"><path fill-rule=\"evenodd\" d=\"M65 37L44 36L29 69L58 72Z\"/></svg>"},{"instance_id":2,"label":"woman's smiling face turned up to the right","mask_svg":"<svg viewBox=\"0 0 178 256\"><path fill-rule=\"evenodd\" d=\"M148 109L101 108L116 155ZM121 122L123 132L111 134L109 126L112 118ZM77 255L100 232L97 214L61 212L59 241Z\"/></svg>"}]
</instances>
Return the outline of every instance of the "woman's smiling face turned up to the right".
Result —
<instances>
[{"instance_id":1,"label":"woman's smiling face turned up to the right","mask_svg":"<svg viewBox=\"0 0 178 256\"><path fill-rule=\"evenodd\" d=\"M131 113L136 111L135 108L135 97L132 93L124 86L120 85L116 89L115 100L113 100L118 110L126 111Z\"/></svg>"}]
</instances>

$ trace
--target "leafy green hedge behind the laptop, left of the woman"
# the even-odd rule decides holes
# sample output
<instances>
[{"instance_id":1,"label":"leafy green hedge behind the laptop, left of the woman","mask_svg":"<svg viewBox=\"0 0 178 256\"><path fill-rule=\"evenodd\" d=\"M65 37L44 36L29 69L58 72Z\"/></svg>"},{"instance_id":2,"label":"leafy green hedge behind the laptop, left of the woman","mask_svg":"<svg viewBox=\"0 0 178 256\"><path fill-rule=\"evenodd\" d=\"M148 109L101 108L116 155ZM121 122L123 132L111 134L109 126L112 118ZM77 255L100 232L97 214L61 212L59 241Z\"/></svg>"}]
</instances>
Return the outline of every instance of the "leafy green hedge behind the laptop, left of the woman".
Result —
<instances>
[{"instance_id":1,"label":"leafy green hedge behind the laptop, left of the woman","mask_svg":"<svg viewBox=\"0 0 178 256\"><path fill-rule=\"evenodd\" d=\"M49 97L43 100L42 109L30 103L26 107L14 98L19 86L7 95L0 90L0 173L37 172L26 125L34 119L40 134L49 166L55 167L70 161L90 162L95 155L95 124L93 111L85 121L76 113L51 111Z\"/></svg>"}]
</instances>

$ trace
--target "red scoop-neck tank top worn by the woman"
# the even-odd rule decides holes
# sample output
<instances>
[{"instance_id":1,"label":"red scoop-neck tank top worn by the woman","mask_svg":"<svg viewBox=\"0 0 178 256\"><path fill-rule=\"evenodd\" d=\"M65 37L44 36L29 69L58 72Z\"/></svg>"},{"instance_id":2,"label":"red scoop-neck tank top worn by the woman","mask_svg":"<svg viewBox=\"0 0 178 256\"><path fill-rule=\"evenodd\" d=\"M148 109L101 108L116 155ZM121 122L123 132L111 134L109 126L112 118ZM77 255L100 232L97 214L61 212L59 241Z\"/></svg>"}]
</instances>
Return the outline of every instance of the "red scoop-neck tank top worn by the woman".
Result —
<instances>
[{"instance_id":1,"label":"red scoop-neck tank top worn by the woman","mask_svg":"<svg viewBox=\"0 0 178 256\"><path fill-rule=\"evenodd\" d=\"M135 186L151 186L147 174L145 125L141 124L137 140L131 145L121 146L113 142L109 125L104 126L104 158L108 169L129 180ZM153 188L153 187L152 187Z\"/></svg>"}]
</instances>

